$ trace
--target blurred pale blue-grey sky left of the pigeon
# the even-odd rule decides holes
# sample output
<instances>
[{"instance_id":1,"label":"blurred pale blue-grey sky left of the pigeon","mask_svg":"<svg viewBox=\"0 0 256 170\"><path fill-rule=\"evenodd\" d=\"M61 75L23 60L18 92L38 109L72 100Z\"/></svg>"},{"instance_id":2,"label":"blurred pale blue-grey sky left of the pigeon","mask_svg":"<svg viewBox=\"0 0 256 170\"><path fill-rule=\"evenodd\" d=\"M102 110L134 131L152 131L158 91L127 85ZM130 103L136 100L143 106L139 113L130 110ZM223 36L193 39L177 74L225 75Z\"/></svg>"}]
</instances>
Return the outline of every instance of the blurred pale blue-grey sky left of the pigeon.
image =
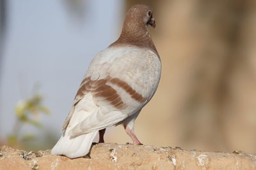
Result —
<instances>
[{"instance_id":1,"label":"blurred pale blue-grey sky left of the pigeon","mask_svg":"<svg viewBox=\"0 0 256 170\"><path fill-rule=\"evenodd\" d=\"M0 136L10 133L15 104L31 96L36 84L51 110L51 116L42 117L42 124L61 133L88 64L115 41L122 28L124 1L88 0L81 8L83 16L76 18L61 0L8 0Z\"/></svg>"}]
</instances>

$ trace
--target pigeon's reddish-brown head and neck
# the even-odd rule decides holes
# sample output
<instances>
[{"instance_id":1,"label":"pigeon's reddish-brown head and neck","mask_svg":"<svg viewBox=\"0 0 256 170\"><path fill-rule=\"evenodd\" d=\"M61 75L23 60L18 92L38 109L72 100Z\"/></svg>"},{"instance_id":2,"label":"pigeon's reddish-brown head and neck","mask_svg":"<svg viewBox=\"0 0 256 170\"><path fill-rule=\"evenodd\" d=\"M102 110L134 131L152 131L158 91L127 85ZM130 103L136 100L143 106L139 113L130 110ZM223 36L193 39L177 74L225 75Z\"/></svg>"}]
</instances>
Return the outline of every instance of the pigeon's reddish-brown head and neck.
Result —
<instances>
[{"instance_id":1,"label":"pigeon's reddish-brown head and neck","mask_svg":"<svg viewBox=\"0 0 256 170\"><path fill-rule=\"evenodd\" d=\"M148 16L150 11L150 16ZM157 55L156 47L148 31L148 25L155 27L153 12L150 6L136 4L127 12L122 33L115 43L110 46L135 45L142 48L150 48Z\"/></svg>"}]
</instances>

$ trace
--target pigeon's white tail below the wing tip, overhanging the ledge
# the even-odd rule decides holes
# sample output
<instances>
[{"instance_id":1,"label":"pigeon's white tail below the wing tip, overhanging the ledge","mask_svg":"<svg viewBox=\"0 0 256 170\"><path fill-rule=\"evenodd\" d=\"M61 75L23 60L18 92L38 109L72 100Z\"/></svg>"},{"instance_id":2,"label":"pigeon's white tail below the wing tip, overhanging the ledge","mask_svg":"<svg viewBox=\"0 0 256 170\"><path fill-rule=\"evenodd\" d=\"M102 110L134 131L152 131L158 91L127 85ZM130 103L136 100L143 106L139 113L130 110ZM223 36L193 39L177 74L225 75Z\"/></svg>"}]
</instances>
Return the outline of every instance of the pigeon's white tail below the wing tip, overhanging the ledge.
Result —
<instances>
[{"instance_id":1,"label":"pigeon's white tail below the wing tip, overhanging the ledge","mask_svg":"<svg viewBox=\"0 0 256 170\"><path fill-rule=\"evenodd\" d=\"M52 155L66 155L69 158L83 157L87 155L92 146L92 141L98 131L89 134L81 134L76 137L68 136L68 133L61 136L56 145L52 148Z\"/></svg>"}]
</instances>

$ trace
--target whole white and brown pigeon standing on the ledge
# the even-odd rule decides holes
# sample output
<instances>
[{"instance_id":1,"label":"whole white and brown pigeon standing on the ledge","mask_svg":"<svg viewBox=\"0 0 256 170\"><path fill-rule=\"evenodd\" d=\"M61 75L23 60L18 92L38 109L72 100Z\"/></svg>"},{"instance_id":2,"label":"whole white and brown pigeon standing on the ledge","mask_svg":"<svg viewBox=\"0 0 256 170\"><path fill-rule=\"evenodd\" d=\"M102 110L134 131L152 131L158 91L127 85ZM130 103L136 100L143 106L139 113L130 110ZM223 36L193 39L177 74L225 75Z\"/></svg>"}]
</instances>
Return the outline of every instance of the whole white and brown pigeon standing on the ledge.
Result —
<instances>
[{"instance_id":1,"label":"whole white and brown pigeon standing on the ledge","mask_svg":"<svg viewBox=\"0 0 256 170\"><path fill-rule=\"evenodd\" d=\"M133 145L142 145L134 134L134 121L161 77L161 59L149 26L156 28L150 6L136 4L127 11L120 37L90 63L52 155L84 157L97 133L99 143L104 143L106 127L115 125L124 126Z\"/></svg>"}]
</instances>

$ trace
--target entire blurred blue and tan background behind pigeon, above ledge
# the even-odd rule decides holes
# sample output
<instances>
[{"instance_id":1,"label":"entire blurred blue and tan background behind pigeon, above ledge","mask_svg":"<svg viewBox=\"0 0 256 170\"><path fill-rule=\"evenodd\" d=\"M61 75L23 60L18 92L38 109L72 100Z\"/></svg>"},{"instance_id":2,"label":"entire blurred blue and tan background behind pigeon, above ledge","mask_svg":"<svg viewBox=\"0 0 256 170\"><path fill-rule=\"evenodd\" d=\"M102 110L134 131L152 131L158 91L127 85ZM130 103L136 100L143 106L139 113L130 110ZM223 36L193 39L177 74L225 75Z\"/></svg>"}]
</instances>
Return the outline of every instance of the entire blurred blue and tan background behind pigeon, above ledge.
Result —
<instances>
[{"instance_id":1,"label":"entire blurred blue and tan background behind pigeon, above ledge","mask_svg":"<svg viewBox=\"0 0 256 170\"><path fill-rule=\"evenodd\" d=\"M154 10L163 71L135 131L145 145L256 153L256 1L0 0L0 144L52 148L97 52L133 4ZM131 139L122 126L107 143Z\"/></svg>"}]
</instances>

